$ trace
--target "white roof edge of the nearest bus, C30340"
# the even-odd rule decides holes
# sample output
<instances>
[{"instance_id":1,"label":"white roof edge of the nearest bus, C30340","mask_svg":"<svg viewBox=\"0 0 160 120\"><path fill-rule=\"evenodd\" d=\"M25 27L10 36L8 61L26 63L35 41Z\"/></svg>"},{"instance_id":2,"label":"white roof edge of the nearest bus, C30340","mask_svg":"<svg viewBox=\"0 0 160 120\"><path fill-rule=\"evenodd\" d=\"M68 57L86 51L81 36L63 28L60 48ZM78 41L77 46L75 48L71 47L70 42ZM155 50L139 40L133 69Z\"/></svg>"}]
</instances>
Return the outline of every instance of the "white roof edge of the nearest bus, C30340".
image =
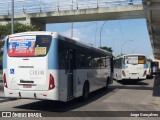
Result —
<instances>
[{"instance_id":1,"label":"white roof edge of the nearest bus, C30340","mask_svg":"<svg viewBox=\"0 0 160 120\"><path fill-rule=\"evenodd\" d=\"M103 49L100 48L96 48L94 46L92 46L91 44L87 44L86 42L82 42L82 41L77 41L74 38L69 38L69 37L65 37L61 34L59 34L58 32L48 32L48 31L30 31L30 32L21 32L21 33L15 33L15 34L11 34L8 37L12 38L12 37L19 37L19 36L29 36L29 35L52 35L54 38L58 38L60 37L62 40L64 41L68 41L71 42L73 44L88 48L88 49L93 49L95 51L99 51L101 53L107 54L112 56L112 53L109 51L105 51Z\"/></svg>"}]
</instances>

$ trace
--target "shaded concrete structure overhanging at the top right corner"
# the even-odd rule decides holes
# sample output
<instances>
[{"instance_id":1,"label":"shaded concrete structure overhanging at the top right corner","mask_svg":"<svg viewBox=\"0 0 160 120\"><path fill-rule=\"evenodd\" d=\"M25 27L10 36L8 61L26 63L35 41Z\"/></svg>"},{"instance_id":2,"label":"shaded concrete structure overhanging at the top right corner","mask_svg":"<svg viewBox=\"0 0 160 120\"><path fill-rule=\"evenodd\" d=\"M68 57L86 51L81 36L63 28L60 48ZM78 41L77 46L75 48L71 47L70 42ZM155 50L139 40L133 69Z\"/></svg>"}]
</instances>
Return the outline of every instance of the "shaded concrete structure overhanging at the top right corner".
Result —
<instances>
[{"instance_id":1,"label":"shaded concrete structure overhanging at the top right corner","mask_svg":"<svg viewBox=\"0 0 160 120\"><path fill-rule=\"evenodd\" d=\"M160 59L160 0L143 0L154 57Z\"/></svg>"}]
</instances>

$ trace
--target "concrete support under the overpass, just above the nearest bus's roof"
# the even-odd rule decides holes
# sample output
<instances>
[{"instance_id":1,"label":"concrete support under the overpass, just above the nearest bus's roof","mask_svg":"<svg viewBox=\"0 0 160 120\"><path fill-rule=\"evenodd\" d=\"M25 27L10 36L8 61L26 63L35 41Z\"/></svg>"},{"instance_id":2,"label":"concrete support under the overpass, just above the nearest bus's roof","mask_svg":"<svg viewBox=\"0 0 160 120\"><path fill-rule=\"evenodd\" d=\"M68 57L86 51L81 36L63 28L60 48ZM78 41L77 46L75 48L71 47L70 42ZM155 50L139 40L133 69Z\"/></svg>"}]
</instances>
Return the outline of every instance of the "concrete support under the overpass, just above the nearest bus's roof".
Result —
<instances>
[{"instance_id":1,"label":"concrete support under the overpass, just above the nearest bus's roof","mask_svg":"<svg viewBox=\"0 0 160 120\"><path fill-rule=\"evenodd\" d=\"M39 31L46 31L46 23L42 23L38 20L27 18L26 24L35 26L36 28L38 28Z\"/></svg>"}]
</instances>

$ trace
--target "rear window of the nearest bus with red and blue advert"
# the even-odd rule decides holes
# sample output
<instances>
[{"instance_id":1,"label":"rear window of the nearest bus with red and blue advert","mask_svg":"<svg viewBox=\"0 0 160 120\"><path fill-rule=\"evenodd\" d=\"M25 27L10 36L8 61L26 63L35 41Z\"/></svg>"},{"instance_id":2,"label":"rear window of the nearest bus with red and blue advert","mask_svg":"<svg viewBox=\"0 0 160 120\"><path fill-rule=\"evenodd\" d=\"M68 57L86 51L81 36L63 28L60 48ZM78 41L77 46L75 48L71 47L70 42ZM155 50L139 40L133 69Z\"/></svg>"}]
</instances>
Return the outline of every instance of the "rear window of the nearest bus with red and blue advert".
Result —
<instances>
[{"instance_id":1,"label":"rear window of the nearest bus with red and blue advert","mask_svg":"<svg viewBox=\"0 0 160 120\"><path fill-rule=\"evenodd\" d=\"M49 35L21 36L8 39L10 57L34 57L47 55L52 37Z\"/></svg>"}]
</instances>

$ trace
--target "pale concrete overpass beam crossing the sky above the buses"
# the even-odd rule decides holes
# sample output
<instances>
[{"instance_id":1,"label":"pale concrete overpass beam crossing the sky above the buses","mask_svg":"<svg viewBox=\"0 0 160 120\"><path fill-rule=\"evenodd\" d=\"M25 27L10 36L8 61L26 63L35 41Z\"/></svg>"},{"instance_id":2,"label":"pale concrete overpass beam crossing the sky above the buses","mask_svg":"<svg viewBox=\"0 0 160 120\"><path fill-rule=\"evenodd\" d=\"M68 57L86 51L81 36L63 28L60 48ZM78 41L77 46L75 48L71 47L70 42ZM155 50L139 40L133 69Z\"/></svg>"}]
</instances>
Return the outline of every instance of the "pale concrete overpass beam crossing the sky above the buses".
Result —
<instances>
[{"instance_id":1,"label":"pale concrete overpass beam crossing the sky above the buses","mask_svg":"<svg viewBox=\"0 0 160 120\"><path fill-rule=\"evenodd\" d=\"M15 21L24 24L35 25L41 30L45 30L46 23L137 19L144 17L142 5L127 5L53 12L25 13L15 15ZM6 24L10 21L10 15L0 16L0 22L2 24Z\"/></svg>"}]
</instances>

